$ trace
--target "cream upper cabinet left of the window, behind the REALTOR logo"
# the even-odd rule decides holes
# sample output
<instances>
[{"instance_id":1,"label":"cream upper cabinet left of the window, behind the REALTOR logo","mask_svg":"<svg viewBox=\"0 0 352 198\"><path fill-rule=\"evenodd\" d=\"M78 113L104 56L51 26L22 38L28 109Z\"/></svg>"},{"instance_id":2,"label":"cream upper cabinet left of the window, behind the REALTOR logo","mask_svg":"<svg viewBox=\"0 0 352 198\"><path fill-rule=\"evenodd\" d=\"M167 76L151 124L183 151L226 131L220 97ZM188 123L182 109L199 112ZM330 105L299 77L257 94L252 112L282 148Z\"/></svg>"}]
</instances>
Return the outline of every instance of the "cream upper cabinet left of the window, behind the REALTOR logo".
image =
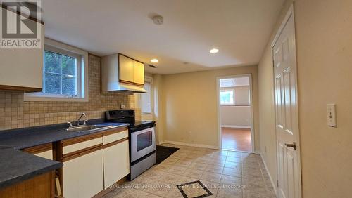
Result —
<instances>
[{"instance_id":1,"label":"cream upper cabinet left of the window, behind the REALTOR logo","mask_svg":"<svg viewBox=\"0 0 352 198\"><path fill-rule=\"evenodd\" d=\"M6 11L1 8L1 11ZM7 11L8 15L17 14ZM8 16L9 17L9 16ZM44 25L37 24L40 34L40 48L0 48L0 89L22 90L26 92L42 91ZM4 41L4 40L2 40Z\"/></svg>"}]
</instances>

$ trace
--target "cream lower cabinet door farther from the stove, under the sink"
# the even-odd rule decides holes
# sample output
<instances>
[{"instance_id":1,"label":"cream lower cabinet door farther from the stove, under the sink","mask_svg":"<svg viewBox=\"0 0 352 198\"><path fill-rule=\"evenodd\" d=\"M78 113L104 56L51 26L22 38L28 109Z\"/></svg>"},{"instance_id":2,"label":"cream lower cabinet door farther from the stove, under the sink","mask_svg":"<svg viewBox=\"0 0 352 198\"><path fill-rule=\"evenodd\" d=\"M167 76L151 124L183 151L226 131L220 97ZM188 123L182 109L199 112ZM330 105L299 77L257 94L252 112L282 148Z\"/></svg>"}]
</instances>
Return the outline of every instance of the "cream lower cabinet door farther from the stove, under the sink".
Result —
<instances>
[{"instance_id":1,"label":"cream lower cabinet door farther from the stove, under the sink","mask_svg":"<svg viewBox=\"0 0 352 198\"><path fill-rule=\"evenodd\" d=\"M93 197L103 190L103 150L63 162L63 196Z\"/></svg>"}]
</instances>

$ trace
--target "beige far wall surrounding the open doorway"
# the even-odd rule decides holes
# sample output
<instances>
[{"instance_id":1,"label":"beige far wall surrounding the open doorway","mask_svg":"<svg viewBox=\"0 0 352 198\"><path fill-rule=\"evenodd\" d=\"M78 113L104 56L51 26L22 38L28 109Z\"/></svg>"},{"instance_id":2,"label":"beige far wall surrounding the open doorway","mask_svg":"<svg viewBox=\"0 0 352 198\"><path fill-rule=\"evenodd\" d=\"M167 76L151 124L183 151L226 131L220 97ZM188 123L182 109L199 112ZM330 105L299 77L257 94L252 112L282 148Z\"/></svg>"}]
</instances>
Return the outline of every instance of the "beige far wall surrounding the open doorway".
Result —
<instances>
[{"instance_id":1,"label":"beige far wall surrounding the open doorway","mask_svg":"<svg viewBox=\"0 0 352 198\"><path fill-rule=\"evenodd\" d=\"M216 78L252 74L256 149L258 149L257 66L189 72L163 76L163 138L189 144L218 147L218 102Z\"/></svg>"}]
</instances>

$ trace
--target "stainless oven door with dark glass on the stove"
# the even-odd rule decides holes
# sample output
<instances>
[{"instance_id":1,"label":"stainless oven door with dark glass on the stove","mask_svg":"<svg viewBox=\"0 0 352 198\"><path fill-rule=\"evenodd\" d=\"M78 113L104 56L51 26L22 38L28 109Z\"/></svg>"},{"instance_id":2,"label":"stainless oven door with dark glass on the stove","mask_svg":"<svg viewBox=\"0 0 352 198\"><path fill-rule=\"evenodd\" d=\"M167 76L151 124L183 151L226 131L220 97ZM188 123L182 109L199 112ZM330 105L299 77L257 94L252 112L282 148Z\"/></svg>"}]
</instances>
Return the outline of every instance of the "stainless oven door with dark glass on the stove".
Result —
<instances>
[{"instance_id":1,"label":"stainless oven door with dark glass on the stove","mask_svg":"<svg viewBox=\"0 0 352 198\"><path fill-rule=\"evenodd\" d=\"M154 127L131 133L131 162L154 150L156 150Z\"/></svg>"}]
</instances>

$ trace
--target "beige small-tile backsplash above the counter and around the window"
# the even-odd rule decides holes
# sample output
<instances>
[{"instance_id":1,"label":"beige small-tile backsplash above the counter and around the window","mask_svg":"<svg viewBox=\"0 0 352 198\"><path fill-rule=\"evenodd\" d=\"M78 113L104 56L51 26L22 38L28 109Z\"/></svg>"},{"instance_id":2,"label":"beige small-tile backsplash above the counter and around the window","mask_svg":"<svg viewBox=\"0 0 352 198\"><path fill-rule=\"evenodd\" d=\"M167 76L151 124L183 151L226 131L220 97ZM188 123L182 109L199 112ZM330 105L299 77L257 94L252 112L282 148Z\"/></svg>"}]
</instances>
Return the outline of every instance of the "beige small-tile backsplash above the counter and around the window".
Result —
<instances>
[{"instance_id":1,"label":"beige small-tile backsplash above the counter and around the window","mask_svg":"<svg viewBox=\"0 0 352 198\"><path fill-rule=\"evenodd\" d=\"M134 107L134 95L101 93L101 58L89 55L89 102L25 102L23 92L0 91L0 130L103 117L106 110ZM136 111L136 119L138 113Z\"/></svg>"}]
</instances>

